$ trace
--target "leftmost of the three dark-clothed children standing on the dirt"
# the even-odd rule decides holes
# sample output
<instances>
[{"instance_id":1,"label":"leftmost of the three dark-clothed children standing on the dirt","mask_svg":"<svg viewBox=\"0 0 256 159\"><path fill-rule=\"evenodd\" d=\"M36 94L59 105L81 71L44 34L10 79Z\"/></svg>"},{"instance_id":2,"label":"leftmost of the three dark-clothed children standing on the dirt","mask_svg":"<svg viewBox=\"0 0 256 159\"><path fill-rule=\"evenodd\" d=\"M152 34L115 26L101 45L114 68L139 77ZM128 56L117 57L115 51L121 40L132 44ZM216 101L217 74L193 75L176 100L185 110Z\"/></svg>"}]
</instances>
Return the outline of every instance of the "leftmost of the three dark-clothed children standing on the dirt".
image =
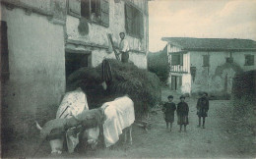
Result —
<instances>
[{"instance_id":1,"label":"leftmost of the three dark-clothed children standing on the dirt","mask_svg":"<svg viewBox=\"0 0 256 159\"><path fill-rule=\"evenodd\" d=\"M171 132L172 123L174 122L174 111L176 110L175 103L172 102L173 96L168 96L168 101L163 105L162 111L164 112L164 120L166 122L166 129Z\"/></svg>"}]
</instances>

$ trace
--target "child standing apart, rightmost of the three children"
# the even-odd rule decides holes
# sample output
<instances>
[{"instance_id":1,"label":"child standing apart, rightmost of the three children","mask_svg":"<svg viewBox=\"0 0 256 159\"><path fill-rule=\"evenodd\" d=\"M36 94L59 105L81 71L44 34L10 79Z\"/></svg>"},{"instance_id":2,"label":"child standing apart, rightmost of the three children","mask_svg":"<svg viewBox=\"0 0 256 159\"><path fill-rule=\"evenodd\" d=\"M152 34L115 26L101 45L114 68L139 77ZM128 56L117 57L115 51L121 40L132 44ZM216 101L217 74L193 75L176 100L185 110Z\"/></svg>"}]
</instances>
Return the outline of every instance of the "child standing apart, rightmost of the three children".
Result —
<instances>
[{"instance_id":1,"label":"child standing apart, rightmost of the three children","mask_svg":"<svg viewBox=\"0 0 256 159\"><path fill-rule=\"evenodd\" d=\"M209 99L208 93L204 92L203 96L197 100L198 127L201 127L201 118L203 118L203 129L205 129L206 117L208 116Z\"/></svg>"}]
</instances>

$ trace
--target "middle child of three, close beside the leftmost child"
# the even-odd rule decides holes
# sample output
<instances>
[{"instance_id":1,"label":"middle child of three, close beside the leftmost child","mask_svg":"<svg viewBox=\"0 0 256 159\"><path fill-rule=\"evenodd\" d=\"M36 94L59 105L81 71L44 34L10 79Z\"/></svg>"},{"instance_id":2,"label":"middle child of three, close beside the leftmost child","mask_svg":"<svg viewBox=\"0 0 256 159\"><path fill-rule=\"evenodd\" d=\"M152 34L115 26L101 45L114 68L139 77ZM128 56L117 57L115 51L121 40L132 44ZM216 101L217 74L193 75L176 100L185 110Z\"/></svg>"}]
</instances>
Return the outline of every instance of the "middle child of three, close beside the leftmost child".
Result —
<instances>
[{"instance_id":1,"label":"middle child of three, close beside the leftmost child","mask_svg":"<svg viewBox=\"0 0 256 159\"><path fill-rule=\"evenodd\" d=\"M185 102L185 96L180 96L180 102L177 105L178 125L180 126L179 132L181 132L182 125L184 125L184 132L186 132L186 126L188 125L188 104Z\"/></svg>"}]
</instances>

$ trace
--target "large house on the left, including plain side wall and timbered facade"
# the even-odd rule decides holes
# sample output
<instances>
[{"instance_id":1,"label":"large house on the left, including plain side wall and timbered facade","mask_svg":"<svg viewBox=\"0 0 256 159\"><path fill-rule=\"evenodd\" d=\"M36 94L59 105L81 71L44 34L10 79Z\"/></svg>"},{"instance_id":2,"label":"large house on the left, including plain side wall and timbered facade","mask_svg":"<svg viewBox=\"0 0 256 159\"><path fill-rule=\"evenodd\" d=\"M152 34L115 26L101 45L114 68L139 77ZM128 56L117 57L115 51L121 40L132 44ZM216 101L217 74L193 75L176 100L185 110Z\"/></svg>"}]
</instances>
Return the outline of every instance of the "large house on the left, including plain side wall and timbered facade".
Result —
<instances>
[{"instance_id":1,"label":"large house on the left, including plain side wall and timbered facade","mask_svg":"<svg viewBox=\"0 0 256 159\"><path fill-rule=\"evenodd\" d=\"M29 111L59 104L66 77L115 58L126 32L130 60L147 68L148 0L1 0L1 105ZM118 49L118 48L117 48Z\"/></svg>"}]
</instances>

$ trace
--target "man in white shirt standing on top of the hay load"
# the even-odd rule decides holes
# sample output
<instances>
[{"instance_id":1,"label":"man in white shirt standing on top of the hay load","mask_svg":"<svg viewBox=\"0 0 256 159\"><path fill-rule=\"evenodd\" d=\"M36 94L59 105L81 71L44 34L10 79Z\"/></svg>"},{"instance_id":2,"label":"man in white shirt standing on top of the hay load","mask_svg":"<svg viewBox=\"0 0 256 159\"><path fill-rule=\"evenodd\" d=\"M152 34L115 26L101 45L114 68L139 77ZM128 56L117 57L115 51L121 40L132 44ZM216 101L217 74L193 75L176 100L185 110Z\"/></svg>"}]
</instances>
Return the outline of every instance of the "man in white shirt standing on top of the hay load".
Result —
<instances>
[{"instance_id":1,"label":"man in white shirt standing on top of the hay load","mask_svg":"<svg viewBox=\"0 0 256 159\"><path fill-rule=\"evenodd\" d=\"M119 43L119 51L121 54L121 61L123 63L128 63L129 60L129 42L127 41L127 39L125 39L125 33L124 32L120 32L119 33L121 41Z\"/></svg>"}]
</instances>

